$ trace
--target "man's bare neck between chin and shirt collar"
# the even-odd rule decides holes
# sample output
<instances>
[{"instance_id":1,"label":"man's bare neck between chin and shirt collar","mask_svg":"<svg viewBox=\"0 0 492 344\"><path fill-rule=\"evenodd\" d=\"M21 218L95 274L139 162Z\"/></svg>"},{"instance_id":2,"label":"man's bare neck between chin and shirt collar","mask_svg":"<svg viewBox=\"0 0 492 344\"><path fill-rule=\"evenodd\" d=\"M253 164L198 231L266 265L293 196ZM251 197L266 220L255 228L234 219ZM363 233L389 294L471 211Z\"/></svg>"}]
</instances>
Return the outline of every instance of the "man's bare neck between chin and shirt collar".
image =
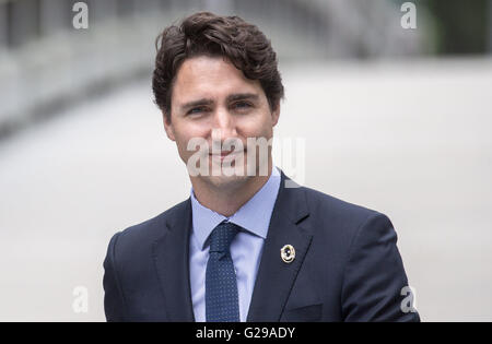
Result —
<instances>
[{"instance_id":1,"label":"man's bare neck between chin and shirt collar","mask_svg":"<svg viewBox=\"0 0 492 344\"><path fill-rule=\"evenodd\" d=\"M232 216L268 181L272 173L271 159L267 176L253 176L241 182L215 186L199 177L190 177L195 198L201 205L226 217Z\"/></svg>"}]
</instances>

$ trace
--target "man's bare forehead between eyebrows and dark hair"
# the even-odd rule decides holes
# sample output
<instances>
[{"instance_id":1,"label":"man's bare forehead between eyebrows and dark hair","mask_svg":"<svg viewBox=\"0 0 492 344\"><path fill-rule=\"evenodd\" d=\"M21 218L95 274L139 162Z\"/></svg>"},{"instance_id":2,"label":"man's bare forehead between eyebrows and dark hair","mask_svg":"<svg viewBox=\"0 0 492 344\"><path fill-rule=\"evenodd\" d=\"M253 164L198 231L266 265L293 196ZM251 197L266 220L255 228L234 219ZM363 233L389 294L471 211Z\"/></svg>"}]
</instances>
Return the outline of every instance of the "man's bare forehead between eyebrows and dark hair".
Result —
<instances>
[{"instance_id":1,"label":"man's bare forehead between eyebrows and dark hair","mask_svg":"<svg viewBox=\"0 0 492 344\"><path fill-rule=\"evenodd\" d=\"M260 93L258 80L249 80L222 57L200 56L187 59L178 69L173 87L173 103L196 97L214 98L231 93Z\"/></svg>"}]
</instances>

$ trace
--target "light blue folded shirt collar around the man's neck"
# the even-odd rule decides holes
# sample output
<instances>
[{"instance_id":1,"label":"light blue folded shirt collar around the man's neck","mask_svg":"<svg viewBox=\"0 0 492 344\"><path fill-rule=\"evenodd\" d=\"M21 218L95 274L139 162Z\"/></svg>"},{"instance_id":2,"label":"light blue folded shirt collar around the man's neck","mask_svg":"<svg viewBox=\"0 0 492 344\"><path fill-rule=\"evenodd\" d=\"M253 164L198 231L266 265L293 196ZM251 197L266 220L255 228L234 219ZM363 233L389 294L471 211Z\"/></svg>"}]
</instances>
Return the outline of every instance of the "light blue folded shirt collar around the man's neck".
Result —
<instances>
[{"instance_id":1,"label":"light blue folded shirt collar around the man's neck","mask_svg":"<svg viewBox=\"0 0 492 344\"><path fill-rule=\"evenodd\" d=\"M194 234L200 249L204 248L207 238L212 230L224 220L232 222L244 229L263 239L267 238L271 213L280 188L280 173L273 166L267 182L232 216L221 215L198 202L191 188L191 210Z\"/></svg>"}]
</instances>

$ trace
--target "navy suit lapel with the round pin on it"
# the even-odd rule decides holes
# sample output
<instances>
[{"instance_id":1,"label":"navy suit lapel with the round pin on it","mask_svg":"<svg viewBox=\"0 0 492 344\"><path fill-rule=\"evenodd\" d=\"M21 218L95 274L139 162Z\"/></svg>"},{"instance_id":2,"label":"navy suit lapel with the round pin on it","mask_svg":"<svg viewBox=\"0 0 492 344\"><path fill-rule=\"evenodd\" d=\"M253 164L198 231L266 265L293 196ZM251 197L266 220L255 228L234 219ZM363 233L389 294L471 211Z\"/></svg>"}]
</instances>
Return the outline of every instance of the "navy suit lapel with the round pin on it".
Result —
<instances>
[{"instance_id":1,"label":"navy suit lapel with the round pin on it","mask_svg":"<svg viewBox=\"0 0 492 344\"><path fill-rule=\"evenodd\" d=\"M312 241L312 235L301 224L308 216L304 191L285 188L285 180L290 179L282 171L247 321L280 320ZM291 263L281 259L280 249L284 245L292 245L295 249L295 259Z\"/></svg>"}]
</instances>

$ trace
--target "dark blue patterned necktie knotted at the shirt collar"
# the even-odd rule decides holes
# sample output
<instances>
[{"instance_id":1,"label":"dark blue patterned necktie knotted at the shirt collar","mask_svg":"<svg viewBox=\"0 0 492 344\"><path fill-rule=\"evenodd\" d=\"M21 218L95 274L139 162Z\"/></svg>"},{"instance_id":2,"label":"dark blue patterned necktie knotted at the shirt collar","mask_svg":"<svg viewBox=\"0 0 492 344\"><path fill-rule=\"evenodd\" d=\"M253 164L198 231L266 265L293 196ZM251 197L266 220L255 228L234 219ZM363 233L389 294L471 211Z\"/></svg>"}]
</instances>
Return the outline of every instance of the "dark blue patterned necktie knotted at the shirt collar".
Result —
<instances>
[{"instance_id":1,"label":"dark blue patterned necktie knotted at the shirt collar","mask_svg":"<svg viewBox=\"0 0 492 344\"><path fill-rule=\"evenodd\" d=\"M236 273L230 245L239 226L222 222L210 236L209 261L206 275L207 321L239 321Z\"/></svg>"}]
</instances>

